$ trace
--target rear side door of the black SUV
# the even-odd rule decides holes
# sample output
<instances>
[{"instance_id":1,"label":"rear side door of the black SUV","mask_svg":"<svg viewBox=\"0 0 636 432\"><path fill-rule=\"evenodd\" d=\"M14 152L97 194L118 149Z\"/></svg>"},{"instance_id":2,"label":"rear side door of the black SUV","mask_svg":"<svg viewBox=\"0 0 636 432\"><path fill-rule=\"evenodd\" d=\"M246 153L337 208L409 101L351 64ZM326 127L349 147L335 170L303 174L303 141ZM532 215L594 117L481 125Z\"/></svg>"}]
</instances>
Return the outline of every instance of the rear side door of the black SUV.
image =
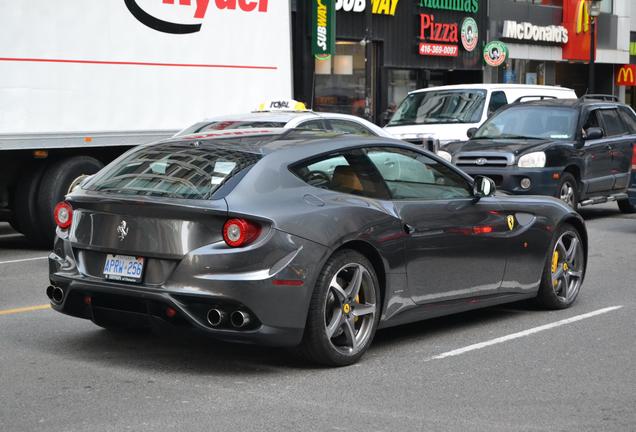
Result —
<instances>
[{"instance_id":1,"label":"rear side door of the black SUV","mask_svg":"<svg viewBox=\"0 0 636 432\"><path fill-rule=\"evenodd\" d=\"M604 109L600 114L607 134L608 157L614 178L612 189L624 190L629 183L634 136L628 133L616 109Z\"/></svg>"}]
</instances>

